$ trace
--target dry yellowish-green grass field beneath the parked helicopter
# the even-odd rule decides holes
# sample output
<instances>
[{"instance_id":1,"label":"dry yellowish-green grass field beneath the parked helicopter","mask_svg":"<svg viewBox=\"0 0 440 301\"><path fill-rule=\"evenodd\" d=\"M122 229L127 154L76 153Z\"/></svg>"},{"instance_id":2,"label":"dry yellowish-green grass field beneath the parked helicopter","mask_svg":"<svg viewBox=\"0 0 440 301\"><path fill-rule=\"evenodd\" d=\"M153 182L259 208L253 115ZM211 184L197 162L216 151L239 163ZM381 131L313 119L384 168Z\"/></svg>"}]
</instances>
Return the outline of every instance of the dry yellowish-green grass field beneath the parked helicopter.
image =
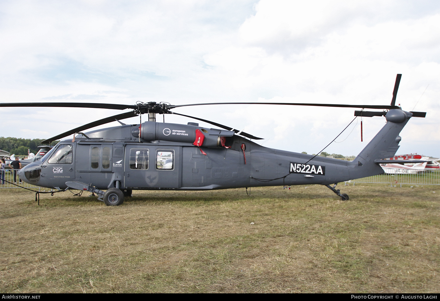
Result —
<instances>
[{"instance_id":1,"label":"dry yellowish-green grass field beneath the parked helicopter","mask_svg":"<svg viewBox=\"0 0 440 301\"><path fill-rule=\"evenodd\" d=\"M2 293L439 292L439 187L0 191ZM253 223L253 224L251 224Z\"/></svg>"}]
</instances>

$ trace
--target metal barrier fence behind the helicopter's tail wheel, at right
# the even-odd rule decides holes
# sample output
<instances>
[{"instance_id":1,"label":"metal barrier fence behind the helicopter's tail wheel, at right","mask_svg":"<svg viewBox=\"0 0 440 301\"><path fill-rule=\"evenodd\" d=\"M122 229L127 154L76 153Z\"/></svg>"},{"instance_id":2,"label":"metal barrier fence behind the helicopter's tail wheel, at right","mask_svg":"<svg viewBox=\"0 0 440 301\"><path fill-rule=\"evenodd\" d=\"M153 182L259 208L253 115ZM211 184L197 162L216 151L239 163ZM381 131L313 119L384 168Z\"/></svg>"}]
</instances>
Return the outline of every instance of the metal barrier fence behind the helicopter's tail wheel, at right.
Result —
<instances>
[{"instance_id":1,"label":"metal barrier fence behind the helicopter's tail wheel, at right","mask_svg":"<svg viewBox=\"0 0 440 301\"><path fill-rule=\"evenodd\" d=\"M352 183L387 183L390 186L408 185L440 185L440 171L425 171L422 173L384 173L377 176L350 180L345 185Z\"/></svg>"}]
</instances>

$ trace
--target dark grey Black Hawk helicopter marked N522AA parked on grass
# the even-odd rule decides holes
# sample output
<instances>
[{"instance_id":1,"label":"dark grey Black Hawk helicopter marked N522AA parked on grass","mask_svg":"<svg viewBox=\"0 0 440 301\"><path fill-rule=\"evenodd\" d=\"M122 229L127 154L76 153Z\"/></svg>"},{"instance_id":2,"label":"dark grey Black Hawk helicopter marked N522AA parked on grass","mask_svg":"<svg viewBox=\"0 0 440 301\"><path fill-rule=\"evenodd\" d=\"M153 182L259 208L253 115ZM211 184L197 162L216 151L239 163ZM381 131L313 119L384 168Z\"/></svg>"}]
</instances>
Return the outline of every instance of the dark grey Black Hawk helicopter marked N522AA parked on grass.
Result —
<instances>
[{"instance_id":1,"label":"dark grey Black Hawk helicopter marked N522AA parked on grass","mask_svg":"<svg viewBox=\"0 0 440 301\"><path fill-rule=\"evenodd\" d=\"M381 159L390 158L396 153L402 128L411 117L425 117L424 112L406 112L395 105L400 76L397 75L389 106L239 103L354 107L362 109L355 111L355 116L385 116L385 126L351 162L263 147L249 140L261 138L212 121L171 111L182 106L210 103L3 103L1 106L132 109L131 112L107 117L43 141L42 143L50 143L74 133L78 134L73 140L59 142L43 158L19 172L22 180L29 184L58 190L92 191L108 206L121 205L124 196L131 195L133 189L213 190L303 184L325 185L343 200L348 200L348 195L335 189L336 184L384 173L379 164L383 162ZM382 111L364 111L366 108ZM137 125L120 122L119 126L81 132L110 121L141 114L148 114L149 120ZM187 125L156 122L156 114L186 116L221 129L201 127L192 122Z\"/></svg>"}]
</instances>

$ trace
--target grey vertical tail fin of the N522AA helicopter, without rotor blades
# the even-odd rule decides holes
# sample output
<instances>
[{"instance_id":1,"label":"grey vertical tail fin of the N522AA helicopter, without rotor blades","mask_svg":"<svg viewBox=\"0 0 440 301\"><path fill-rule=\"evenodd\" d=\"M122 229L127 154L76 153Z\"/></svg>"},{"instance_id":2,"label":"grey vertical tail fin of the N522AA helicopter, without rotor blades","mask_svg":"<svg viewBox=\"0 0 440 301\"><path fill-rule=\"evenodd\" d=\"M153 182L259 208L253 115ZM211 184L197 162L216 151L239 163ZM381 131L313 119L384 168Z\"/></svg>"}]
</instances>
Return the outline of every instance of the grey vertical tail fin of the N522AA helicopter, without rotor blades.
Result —
<instances>
[{"instance_id":1,"label":"grey vertical tail fin of the N522AA helicopter, without rotor blades","mask_svg":"<svg viewBox=\"0 0 440 301\"><path fill-rule=\"evenodd\" d=\"M389 110L387 123L367 146L350 162L350 179L359 179L384 173L374 160L391 158L399 149L399 133L413 114L400 109Z\"/></svg>"}]
</instances>

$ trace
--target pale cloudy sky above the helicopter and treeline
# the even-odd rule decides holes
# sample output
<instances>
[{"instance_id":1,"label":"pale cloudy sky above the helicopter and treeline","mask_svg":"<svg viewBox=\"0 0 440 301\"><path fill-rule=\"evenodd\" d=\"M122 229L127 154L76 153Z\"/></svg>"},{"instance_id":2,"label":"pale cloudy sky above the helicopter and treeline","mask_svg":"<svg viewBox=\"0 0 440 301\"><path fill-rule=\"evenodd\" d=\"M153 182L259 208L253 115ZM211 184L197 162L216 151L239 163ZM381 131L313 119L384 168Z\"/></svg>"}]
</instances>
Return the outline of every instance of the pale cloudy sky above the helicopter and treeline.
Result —
<instances>
[{"instance_id":1,"label":"pale cloudy sky above the helicopter and treeline","mask_svg":"<svg viewBox=\"0 0 440 301\"><path fill-rule=\"evenodd\" d=\"M427 114L403 128L397 154L440 157L438 0L1 0L0 41L0 103L389 105L401 73L396 104ZM265 138L255 141L263 146L308 154L330 143L354 110L174 109ZM46 139L120 113L1 107L0 136ZM167 114L165 122L197 121ZM363 142L360 123L324 151L358 154L385 117L363 117Z\"/></svg>"}]
</instances>

